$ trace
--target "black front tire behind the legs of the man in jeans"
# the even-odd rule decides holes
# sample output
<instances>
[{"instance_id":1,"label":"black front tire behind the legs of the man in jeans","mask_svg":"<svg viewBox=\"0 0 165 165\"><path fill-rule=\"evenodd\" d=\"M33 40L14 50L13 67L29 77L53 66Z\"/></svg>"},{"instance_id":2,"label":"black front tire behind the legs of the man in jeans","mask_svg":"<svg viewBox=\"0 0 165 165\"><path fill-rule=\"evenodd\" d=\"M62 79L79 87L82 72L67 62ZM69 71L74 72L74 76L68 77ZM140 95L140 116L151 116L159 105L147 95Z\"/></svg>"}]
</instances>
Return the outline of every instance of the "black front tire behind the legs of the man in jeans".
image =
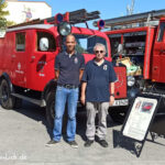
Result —
<instances>
[{"instance_id":1,"label":"black front tire behind the legs of the man in jeans","mask_svg":"<svg viewBox=\"0 0 165 165\"><path fill-rule=\"evenodd\" d=\"M48 127L52 130L54 128L54 118L55 118L55 91L50 91L46 97L46 120ZM66 132L66 125L67 125L67 111L65 109L65 113L63 117L63 130L62 130L63 134Z\"/></svg>"}]
</instances>

